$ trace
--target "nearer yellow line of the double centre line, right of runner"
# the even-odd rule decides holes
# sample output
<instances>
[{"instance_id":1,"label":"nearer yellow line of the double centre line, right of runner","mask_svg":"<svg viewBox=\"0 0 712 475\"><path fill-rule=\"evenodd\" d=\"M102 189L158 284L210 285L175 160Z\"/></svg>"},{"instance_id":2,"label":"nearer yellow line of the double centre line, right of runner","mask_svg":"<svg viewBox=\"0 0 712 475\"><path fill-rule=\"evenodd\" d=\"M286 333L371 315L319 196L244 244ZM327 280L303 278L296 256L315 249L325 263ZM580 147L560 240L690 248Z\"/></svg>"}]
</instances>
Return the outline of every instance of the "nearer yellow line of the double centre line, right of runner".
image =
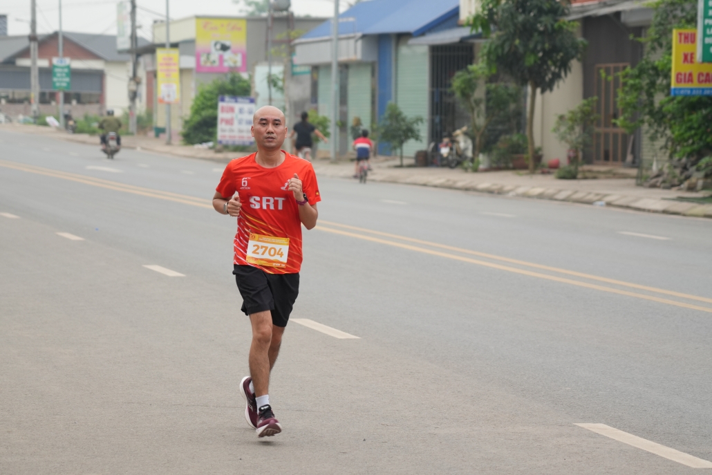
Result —
<instances>
[{"instance_id":1,"label":"nearer yellow line of the double centre line, right of runner","mask_svg":"<svg viewBox=\"0 0 712 475\"><path fill-rule=\"evenodd\" d=\"M712 308L691 305L690 303L685 303L685 302L671 301L667 298L646 296L643 293L623 291L618 288L599 286L595 283L575 281L573 279L565 278L565 277L550 276L545 273L538 273L538 272L533 272L533 271L527 271L525 269L503 266L502 264L493 263L493 262L478 261L477 259L471 259L469 257L457 256L456 254L447 254L445 252L434 251L433 249L425 249L423 247L411 246L410 244L402 244L402 243L395 242L395 241L387 241L386 239L380 239L380 238L373 237L373 236L365 236L364 234L355 234L355 233L352 233L349 231L342 231L340 229L331 229L331 228L326 228L324 226L316 226L316 229L319 229L320 231L327 231L327 232L334 233L334 234L341 234L342 236L350 236L350 237L355 237L357 239L364 239L365 241L377 242L379 244L387 244L388 246L395 246L395 247L399 247L401 249L408 249L409 251L417 251L417 252L422 252L424 254L431 254L431 256L439 256L439 257L444 257L446 259L454 259L456 261L463 261L463 262L477 264L478 266L496 268L496 269L499 269L500 271L519 273L524 276L543 278L548 281L568 283L572 286L592 288L597 291L617 293L618 295L622 295L622 296L642 298L642 299L648 300L648 301L654 301L654 302L658 302L658 303L666 303L667 305L673 305L673 306L682 307L682 308L690 308L692 310L700 310L702 312L712 313Z\"/></svg>"}]
</instances>

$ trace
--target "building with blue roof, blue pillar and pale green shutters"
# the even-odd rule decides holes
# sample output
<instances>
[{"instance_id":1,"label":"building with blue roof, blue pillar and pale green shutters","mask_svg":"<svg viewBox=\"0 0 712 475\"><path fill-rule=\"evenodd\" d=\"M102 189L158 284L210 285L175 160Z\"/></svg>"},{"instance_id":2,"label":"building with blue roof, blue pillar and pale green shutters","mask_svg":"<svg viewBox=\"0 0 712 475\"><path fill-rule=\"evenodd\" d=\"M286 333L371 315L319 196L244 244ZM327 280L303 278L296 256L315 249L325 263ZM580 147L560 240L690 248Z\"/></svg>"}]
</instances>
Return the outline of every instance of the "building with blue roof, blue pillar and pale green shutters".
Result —
<instances>
[{"instance_id":1,"label":"building with blue roof, blue pillar and pale green shutters","mask_svg":"<svg viewBox=\"0 0 712 475\"><path fill-rule=\"evenodd\" d=\"M459 43L469 36L459 28L459 0L371 0L340 14L339 20L339 147L350 148L350 125L357 118L372 129L389 102L409 118L421 117L420 140L404 145L412 156L432 140L468 123L449 94L449 79L474 57L473 43ZM295 63L313 68L313 106L331 116L332 20L295 41ZM454 48L424 41L451 29L461 34ZM444 105L446 102L446 105ZM379 153L390 151L379 144Z\"/></svg>"}]
</instances>

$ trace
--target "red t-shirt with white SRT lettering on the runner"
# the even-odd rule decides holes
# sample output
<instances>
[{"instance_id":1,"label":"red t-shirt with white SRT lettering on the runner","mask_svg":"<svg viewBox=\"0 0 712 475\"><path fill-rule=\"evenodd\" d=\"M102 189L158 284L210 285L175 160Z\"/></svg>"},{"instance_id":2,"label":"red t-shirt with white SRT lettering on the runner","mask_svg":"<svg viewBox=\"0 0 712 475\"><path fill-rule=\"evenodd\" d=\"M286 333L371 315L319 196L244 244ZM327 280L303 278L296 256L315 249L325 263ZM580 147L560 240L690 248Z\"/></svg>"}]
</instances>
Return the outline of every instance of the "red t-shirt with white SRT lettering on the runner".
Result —
<instances>
[{"instance_id":1,"label":"red t-shirt with white SRT lettering on the runner","mask_svg":"<svg viewBox=\"0 0 712 475\"><path fill-rule=\"evenodd\" d=\"M275 168L258 165L256 153L232 160L216 188L226 198L237 192L242 203L234 241L235 263L267 273L297 273L302 265L302 223L288 179L296 173L309 204L321 201L311 163L282 152L284 162ZM283 238L289 239L288 249ZM260 252L263 258L255 258Z\"/></svg>"}]
</instances>

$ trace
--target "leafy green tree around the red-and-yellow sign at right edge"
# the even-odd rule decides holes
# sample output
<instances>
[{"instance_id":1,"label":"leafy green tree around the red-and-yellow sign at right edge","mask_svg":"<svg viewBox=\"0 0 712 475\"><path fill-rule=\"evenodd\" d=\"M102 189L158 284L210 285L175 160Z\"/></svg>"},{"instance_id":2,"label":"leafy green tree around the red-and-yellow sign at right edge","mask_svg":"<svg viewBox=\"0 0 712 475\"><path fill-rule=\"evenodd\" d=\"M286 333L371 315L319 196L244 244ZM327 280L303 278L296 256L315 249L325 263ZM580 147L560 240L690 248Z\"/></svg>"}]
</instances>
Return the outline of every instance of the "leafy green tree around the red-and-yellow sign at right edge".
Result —
<instances>
[{"instance_id":1,"label":"leafy green tree around the red-and-yellow sign at right edge","mask_svg":"<svg viewBox=\"0 0 712 475\"><path fill-rule=\"evenodd\" d=\"M681 181L712 155L712 97L671 96L672 31L696 28L697 0L659 0L644 38L644 57L621 73L623 110L618 125L633 133L645 126L651 140L661 143L679 165Z\"/></svg>"}]
</instances>

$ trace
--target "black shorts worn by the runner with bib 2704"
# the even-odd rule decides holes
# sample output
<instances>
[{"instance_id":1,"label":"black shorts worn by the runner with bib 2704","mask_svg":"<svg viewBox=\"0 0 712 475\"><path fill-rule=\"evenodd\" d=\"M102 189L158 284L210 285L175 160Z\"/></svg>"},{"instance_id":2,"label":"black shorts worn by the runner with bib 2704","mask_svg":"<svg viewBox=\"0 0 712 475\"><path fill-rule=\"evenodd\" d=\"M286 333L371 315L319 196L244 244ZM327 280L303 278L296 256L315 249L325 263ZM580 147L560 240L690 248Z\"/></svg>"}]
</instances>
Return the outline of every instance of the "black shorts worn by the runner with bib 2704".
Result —
<instances>
[{"instance_id":1,"label":"black shorts worn by the runner with bib 2704","mask_svg":"<svg viewBox=\"0 0 712 475\"><path fill-rule=\"evenodd\" d=\"M272 324L286 327L299 295L299 273L266 273L253 266L234 265L245 315L271 310Z\"/></svg>"}]
</instances>

